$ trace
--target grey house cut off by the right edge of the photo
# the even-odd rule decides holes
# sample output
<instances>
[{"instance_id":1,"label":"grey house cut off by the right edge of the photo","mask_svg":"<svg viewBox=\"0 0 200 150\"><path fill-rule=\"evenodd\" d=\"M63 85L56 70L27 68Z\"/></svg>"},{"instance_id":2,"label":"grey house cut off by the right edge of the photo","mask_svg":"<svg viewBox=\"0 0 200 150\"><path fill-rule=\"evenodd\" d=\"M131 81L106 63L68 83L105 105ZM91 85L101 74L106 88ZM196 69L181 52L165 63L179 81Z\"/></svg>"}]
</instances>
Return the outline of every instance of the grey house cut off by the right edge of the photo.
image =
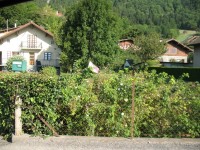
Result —
<instances>
[{"instance_id":1,"label":"grey house cut off by the right edge of the photo","mask_svg":"<svg viewBox=\"0 0 200 150\"><path fill-rule=\"evenodd\" d=\"M200 67L200 36L193 39L189 46L194 47L193 67Z\"/></svg>"}]
</instances>

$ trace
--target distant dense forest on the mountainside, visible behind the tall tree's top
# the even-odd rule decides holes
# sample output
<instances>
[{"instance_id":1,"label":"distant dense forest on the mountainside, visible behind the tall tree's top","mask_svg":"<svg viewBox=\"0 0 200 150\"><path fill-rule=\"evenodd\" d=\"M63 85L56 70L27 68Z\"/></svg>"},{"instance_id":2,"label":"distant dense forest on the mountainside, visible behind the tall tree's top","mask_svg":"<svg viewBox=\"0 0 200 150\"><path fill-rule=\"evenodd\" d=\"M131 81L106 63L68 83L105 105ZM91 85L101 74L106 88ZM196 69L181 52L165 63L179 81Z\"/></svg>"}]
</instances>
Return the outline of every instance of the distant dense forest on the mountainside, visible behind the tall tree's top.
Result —
<instances>
[{"instance_id":1,"label":"distant dense forest on the mountainside, visible behind the tall tree's top","mask_svg":"<svg viewBox=\"0 0 200 150\"><path fill-rule=\"evenodd\" d=\"M45 1L45 0L44 0ZM80 0L50 0L64 10ZM112 0L114 10L132 23L164 28L200 29L200 0Z\"/></svg>"}]
</instances>

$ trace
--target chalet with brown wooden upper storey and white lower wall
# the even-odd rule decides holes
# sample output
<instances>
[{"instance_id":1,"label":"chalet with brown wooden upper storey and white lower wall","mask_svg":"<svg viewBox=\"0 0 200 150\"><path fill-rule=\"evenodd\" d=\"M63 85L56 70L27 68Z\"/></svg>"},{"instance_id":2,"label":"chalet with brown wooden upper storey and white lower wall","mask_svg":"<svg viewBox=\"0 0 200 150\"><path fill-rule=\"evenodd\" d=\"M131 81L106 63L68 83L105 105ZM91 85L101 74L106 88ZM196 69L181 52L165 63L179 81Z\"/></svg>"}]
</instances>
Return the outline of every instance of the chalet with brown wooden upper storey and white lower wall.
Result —
<instances>
[{"instance_id":1,"label":"chalet with brown wooden upper storey and white lower wall","mask_svg":"<svg viewBox=\"0 0 200 150\"><path fill-rule=\"evenodd\" d=\"M168 40L166 45L166 52L160 57L160 62L188 63L188 55L192 51L192 49L179 43L175 39Z\"/></svg>"}]
</instances>

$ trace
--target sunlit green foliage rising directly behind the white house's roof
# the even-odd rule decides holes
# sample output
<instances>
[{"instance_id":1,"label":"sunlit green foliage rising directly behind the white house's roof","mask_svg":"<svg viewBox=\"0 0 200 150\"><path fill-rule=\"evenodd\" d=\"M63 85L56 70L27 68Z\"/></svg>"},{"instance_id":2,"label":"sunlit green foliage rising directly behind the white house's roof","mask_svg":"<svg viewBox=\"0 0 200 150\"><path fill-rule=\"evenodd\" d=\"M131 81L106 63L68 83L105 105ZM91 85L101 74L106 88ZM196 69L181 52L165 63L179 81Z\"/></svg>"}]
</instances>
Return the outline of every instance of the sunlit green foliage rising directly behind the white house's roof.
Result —
<instances>
[{"instance_id":1,"label":"sunlit green foliage rising directly behind the white house's roof","mask_svg":"<svg viewBox=\"0 0 200 150\"><path fill-rule=\"evenodd\" d=\"M60 41L60 28L64 17L56 15L56 11L49 5L37 5L35 2L27 2L0 9L0 30L13 28L34 21L53 33L58 45Z\"/></svg>"}]
</instances>

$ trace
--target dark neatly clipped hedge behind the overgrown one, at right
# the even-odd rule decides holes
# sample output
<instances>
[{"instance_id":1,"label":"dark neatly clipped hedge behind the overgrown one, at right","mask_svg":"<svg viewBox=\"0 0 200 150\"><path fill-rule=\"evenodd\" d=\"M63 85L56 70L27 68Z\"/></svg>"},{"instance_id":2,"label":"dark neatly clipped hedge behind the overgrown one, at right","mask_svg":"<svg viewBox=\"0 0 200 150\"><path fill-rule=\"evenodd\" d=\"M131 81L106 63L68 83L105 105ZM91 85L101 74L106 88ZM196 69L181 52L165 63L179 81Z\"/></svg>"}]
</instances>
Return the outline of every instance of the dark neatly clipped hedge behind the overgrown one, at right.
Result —
<instances>
[{"instance_id":1,"label":"dark neatly clipped hedge behind the overgrown one, at right","mask_svg":"<svg viewBox=\"0 0 200 150\"><path fill-rule=\"evenodd\" d=\"M149 67L149 70L156 70L157 73L166 72L175 78L180 78L183 74L188 73L189 78L184 78L184 80L200 82L200 68Z\"/></svg>"}]
</instances>

